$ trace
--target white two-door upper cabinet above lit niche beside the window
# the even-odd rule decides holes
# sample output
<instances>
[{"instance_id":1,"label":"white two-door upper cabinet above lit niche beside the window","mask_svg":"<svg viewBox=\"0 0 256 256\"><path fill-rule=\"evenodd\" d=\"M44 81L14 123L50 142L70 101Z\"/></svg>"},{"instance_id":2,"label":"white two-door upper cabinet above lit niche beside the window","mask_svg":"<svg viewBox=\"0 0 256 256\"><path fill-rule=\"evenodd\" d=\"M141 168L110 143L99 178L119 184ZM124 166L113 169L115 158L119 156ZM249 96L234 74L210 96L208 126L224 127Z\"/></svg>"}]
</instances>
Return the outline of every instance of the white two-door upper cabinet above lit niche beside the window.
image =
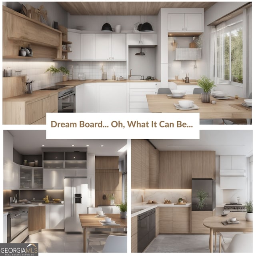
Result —
<instances>
[{"instance_id":1,"label":"white two-door upper cabinet above lit niche beside the window","mask_svg":"<svg viewBox=\"0 0 256 256\"><path fill-rule=\"evenodd\" d=\"M202 13L168 13L169 32L203 32Z\"/></svg>"}]
</instances>

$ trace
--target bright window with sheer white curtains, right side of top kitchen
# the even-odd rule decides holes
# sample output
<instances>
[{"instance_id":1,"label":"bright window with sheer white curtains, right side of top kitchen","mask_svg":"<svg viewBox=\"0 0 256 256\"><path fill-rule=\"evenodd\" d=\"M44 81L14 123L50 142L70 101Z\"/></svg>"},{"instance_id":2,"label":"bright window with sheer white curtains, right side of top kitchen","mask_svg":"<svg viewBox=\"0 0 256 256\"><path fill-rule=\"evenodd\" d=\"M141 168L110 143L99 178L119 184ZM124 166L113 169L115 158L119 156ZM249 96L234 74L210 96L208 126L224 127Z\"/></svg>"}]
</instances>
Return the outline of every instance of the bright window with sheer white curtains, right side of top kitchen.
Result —
<instances>
[{"instance_id":1,"label":"bright window with sheer white curtains, right side of top kitchen","mask_svg":"<svg viewBox=\"0 0 256 256\"><path fill-rule=\"evenodd\" d=\"M251 8L210 28L210 78L251 92Z\"/></svg>"}]
</instances>

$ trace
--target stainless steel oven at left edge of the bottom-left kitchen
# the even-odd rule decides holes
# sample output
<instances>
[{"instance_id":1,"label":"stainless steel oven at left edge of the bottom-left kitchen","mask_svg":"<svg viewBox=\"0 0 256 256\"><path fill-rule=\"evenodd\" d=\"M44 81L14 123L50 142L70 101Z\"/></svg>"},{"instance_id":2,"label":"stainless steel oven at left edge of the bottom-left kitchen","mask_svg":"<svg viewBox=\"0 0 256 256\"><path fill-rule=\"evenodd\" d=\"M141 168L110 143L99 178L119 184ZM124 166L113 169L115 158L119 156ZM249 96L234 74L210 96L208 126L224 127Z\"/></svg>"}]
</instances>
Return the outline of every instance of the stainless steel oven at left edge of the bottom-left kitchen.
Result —
<instances>
[{"instance_id":1,"label":"stainless steel oven at left edge of the bottom-left kitchen","mask_svg":"<svg viewBox=\"0 0 256 256\"><path fill-rule=\"evenodd\" d=\"M28 208L8 210L7 242L23 242L28 236Z\"/></svg>"}]
</instances>

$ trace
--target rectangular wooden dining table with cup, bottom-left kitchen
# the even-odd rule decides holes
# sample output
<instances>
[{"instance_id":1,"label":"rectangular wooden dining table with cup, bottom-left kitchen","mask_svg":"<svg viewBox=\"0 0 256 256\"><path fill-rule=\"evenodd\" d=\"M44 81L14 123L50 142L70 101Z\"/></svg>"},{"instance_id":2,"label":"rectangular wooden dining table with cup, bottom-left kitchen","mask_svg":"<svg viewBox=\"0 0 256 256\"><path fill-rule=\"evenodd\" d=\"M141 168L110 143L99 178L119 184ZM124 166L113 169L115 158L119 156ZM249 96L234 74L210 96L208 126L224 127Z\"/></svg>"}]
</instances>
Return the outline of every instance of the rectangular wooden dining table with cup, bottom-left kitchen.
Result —
<instances>
[{"instance_id":1,"label":"rectangular wooden dining table with cup, bottom-left kitchen","mask_svg":"<svg viewBox=\"0 0 256 256\"><path fill-rule=\"evenodd\" d=\"M116 222L113 225L102 225L101 220L105 218L98 218L96 214L79 214L81 226L84 230L84 252L87 252L87 229L88 228L127 228L127 219L121 219L120 214L106 214L109 218Z\"/></svg>"}]
</instances>

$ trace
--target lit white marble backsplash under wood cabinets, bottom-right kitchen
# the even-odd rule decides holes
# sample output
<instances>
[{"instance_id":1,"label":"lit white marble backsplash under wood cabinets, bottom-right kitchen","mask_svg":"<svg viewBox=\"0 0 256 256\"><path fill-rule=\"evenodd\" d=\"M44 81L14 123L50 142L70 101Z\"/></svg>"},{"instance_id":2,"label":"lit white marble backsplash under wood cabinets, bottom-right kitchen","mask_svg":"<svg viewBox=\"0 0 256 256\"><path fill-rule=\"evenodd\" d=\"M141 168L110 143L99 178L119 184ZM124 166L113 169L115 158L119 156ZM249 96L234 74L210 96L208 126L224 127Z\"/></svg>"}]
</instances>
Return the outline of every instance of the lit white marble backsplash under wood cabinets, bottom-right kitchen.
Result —
<instances>
[{"instance_id":1,"label":"lit white marble backsplash under wood cabinets, bottom-right kitchen","mask_svg":"<svg viewBox=\"0 0 256 256\"><path fill-rule=\"evenodd\" d=\"M187 202L191 202L191 189L133 189L131 193L131 203L141 203L142 197L144 202L155 200L156 202L164 202L164 198L177 202L179 198L185 198Z\"/></svg>"}]
</instances>

